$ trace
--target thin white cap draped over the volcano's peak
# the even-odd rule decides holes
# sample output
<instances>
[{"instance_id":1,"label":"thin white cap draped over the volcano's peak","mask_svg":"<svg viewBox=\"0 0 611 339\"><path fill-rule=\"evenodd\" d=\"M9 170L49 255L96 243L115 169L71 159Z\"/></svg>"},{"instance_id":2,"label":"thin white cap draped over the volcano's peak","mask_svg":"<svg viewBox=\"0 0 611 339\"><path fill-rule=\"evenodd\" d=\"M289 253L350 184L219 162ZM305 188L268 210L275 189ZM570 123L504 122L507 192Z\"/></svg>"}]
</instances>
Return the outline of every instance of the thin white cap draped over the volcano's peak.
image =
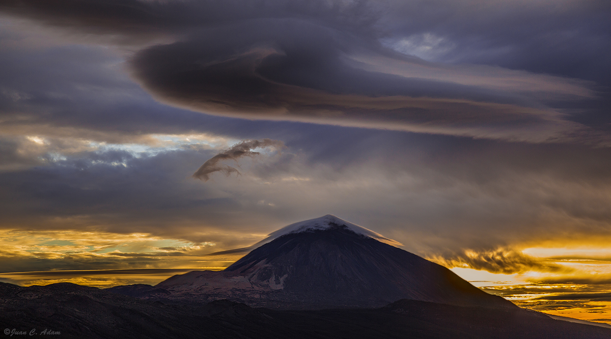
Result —
<instances>
[{"instance_id":1,"label":"thin white cap draped over the volcano's peak","mask_svg":"<svg viewBox=\"0 0 611 339\"><path fill-rule=\"evenodd\" d=\"M348 228L348 230L351 230L358 235L367 236L368 238L373 238L373 239L376 239L377 241L384 242L392 246L401 246L402 245L398 241L395 241L389 238L385 238L384 236L380 235L379 233L376 233L372 230L368 230L365 227L353 224L349 221L345 221L339 217L334 216L333 214L327 214L326 216L318 217L315 219L296 222L295 224L290 224L288 226L280 228L277 231L273 231L272 233L269 233L267 238L263 239L262 241L257 242L257 244L255 244L251 248L255 249L283 235L301 233L301 232L320 231L320 230L332 230L334 228L344 228L344 227Z\"/></svg>"}]
</instances>

